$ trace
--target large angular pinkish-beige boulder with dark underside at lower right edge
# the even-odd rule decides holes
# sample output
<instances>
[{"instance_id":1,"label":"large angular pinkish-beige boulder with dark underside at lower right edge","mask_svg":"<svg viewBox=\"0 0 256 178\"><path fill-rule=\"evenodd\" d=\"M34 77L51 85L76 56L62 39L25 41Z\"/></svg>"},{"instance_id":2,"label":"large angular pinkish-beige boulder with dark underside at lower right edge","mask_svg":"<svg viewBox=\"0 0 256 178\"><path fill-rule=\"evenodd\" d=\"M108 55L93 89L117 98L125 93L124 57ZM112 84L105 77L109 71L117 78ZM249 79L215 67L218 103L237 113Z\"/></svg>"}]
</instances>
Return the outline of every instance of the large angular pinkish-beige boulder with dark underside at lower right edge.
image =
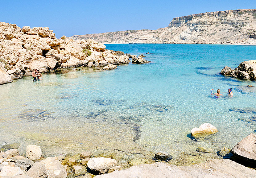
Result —
<instances>
[{"instance_id":1,"label":"large angular pinkish-beige boulder with dark underside at lower right edge","mask_svg":"<svg viewBox=\"0 0 256 178\"><path fill-rule=\"evenodd\" d=\"M250 134L231 150L235 157L256 164L256 135Z\"/></svg>"}]
</instances>

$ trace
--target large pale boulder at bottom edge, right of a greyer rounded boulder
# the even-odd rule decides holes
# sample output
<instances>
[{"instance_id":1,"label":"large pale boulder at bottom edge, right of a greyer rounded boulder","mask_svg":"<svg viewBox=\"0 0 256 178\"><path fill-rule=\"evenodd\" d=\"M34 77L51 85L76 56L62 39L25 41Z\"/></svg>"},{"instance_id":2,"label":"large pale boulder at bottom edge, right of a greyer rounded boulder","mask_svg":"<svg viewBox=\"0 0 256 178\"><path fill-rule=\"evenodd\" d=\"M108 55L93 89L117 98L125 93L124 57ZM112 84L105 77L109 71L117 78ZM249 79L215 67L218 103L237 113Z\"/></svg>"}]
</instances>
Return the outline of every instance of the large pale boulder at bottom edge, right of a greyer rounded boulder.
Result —
<instances>
[{"instance_id":1,"label":"large pale boulder at bottom edge, right of a greyer rounded boulder","mask_svg":"<svg viewBox=\"0 0 256 178\"><path fill-rule=\"evenodd\" d=\"M47 169L47 178L66 178L67 172L56 158L47 157L40 161Z\"/></svg>"}]
</instances>

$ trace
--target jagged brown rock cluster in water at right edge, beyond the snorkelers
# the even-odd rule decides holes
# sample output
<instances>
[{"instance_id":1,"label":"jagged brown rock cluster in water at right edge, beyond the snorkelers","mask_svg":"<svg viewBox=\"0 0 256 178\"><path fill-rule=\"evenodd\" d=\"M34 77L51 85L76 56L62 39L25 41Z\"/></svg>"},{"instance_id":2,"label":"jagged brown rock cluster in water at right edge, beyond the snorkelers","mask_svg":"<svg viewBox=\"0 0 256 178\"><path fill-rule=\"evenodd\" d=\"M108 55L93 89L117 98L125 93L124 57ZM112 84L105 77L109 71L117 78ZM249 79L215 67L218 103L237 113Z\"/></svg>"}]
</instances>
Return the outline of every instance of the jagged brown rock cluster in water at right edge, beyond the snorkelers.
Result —
<instances>
[{"instance_id":1,"label":"jagged brown rock cluster in water at right edge, beyond the snorkelers","mask_svg":"<svg viewBox=\"0 0 256 178\"><path fill-rule=\"evenodd\" d=\"M256 60L244 61L234 70L228 66L225 66L221 70L221 74L229 75L241 80L256 80Z\"/></svg>"}]
</instances>

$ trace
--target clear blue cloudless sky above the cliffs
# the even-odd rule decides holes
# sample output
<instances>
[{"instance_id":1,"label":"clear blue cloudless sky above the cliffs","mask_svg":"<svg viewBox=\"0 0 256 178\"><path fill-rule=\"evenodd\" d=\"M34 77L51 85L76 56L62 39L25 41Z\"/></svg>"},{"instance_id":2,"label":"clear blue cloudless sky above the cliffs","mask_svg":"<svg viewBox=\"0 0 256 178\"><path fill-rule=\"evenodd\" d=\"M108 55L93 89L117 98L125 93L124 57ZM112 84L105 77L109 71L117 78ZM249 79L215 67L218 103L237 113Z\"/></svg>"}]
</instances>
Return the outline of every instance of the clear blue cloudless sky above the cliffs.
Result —
<instances>
[{"instance_id":1,"label":"clear blue cloudless sky above the cliffs","mask_svg":"<svg viewBox=\"0 0 256 178\"><path fill-rule=\"evenodd\" d=\"M49 27L62 35L167 27L172 18L230 9L256 9L255 0L2 0L0 21Z\"/></svg>"}]
</instances>

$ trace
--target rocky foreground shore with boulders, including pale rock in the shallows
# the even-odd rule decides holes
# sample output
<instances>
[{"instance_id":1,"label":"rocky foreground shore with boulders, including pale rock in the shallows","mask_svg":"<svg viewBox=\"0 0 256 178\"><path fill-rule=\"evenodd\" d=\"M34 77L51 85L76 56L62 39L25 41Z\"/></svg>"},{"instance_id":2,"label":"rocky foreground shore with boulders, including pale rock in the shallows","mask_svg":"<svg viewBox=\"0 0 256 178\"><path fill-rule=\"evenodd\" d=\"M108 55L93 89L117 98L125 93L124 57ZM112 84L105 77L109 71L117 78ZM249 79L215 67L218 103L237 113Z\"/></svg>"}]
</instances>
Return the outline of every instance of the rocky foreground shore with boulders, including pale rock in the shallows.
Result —
<instances>
[{"instance_id":1,"label":"rocky foreground shore with boulders, including pale rock in the shallows","mask_svg":"<svg viewBox=\"0 0 256 178\"><path fill-rule=\"evenodd\" d=\"M191 137L204 141L215 134L217 128L209 123L191 130ZM237 143L233 149L221 149L218 159L191 166L176 166L172 156L165 152L155 153L148 161L131 160L126 169L116 155L95 154L84 150L76 154L58 154L43 157L38 145L27 145L26 154L19 153L19 143L2 145L0 153L0 177L42 177L42 178L91 178L91 177L255 177L256 135L250 134ZM210 150L197 148L197 152L210 153ZM230 156L231 154L231 156ZM231 159L225 159L228 157ZM233 156L232 156L233 155ZM150 160L151 159L151 160ZM144 159L145 160L145 159ZM233 160L233 161L232 161ZM235 161L238 161L235 162ZM147 164L143 164L147 163ZM150 164L153 163L153 164ZM247 168L243 165L251 168Z\"/></svg>"}]
</instances>

